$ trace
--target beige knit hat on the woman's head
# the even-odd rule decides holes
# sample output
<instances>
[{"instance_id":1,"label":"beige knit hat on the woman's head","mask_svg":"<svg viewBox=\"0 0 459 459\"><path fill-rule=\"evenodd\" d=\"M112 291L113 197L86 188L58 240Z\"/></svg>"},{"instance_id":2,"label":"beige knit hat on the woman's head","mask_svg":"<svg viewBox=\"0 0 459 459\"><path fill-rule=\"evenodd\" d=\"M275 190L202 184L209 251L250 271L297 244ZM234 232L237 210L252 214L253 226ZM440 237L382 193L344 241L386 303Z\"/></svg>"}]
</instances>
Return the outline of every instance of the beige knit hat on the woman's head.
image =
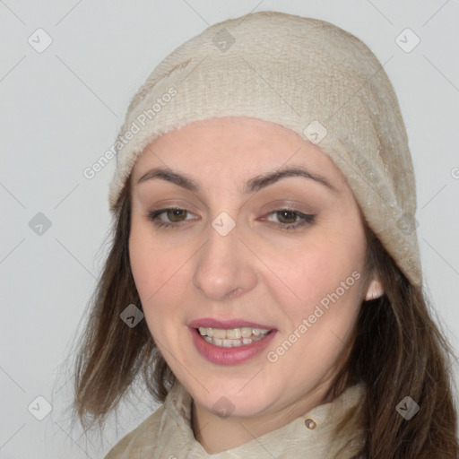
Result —
<instances>
[{"instance_id":1,"label":"beige knit hat on the woman's head","mask_svg":"<svg viewBox=\"0 0 459 459\"><path fill-rule=\"evenodd\" d=\"M394 89L377 57L329 22L249 13L212 25L153 70L127 109L115 150L110 210L155 137L211 117L290 128L342 170L386 250L420 285L416 188Z\"/></svg>"}]
</instances>

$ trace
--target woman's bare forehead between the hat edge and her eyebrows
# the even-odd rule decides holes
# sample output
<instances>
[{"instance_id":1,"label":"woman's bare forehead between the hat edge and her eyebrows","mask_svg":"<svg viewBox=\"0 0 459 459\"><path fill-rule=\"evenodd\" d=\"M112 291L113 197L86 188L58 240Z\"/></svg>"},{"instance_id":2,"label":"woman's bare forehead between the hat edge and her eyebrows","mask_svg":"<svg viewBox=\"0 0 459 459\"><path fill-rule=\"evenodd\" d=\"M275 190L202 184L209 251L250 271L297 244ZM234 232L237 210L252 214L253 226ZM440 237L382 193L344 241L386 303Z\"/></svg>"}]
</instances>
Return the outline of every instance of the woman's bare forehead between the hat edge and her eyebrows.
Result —
<instances>
[{"instance_id":1,"label":"woman's bare forehead between the hat edge and her eyebrows","mask_svg":"<svg viewBox=\"0 0 459 459\"><path fill-rule=\"evenodd\" d=\"M133 180L149 169L188 171L193 176L232 177L304 166L336 187L345 179L320 148L290 129L249 117L195 121L160 135L137 158Z\"/></svg>"}]
</instances>

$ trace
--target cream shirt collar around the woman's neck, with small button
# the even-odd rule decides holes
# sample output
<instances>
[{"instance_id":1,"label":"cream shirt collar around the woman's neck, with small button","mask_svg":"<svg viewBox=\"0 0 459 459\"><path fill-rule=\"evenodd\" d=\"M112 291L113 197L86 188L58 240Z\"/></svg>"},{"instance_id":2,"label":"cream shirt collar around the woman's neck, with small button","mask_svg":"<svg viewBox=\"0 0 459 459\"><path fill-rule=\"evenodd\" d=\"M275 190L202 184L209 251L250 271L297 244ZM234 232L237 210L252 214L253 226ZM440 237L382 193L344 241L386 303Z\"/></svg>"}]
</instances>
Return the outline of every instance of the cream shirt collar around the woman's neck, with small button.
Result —
<instances>
[{"instance_id":1,"label":"cream shirt collar around the woman's neck, with small button","mask_svg":"<svg viewBox=\"0 0 459 459\"><path fill-rule=\"evenodd\" d=\"M299 454L315 458L331 457L338 451L342 451L341 448L344 447L350 454L343 453L340 457L352 457L363 445L363 434L358 419L364 394L363 383L351 385L333 402L316 406L280 429L254 438L244 445L210 455L195 440L191 426L192 398L185 387L176 380L166 398L160 420L158 438L163 444L160 449L163 455L167 454L164 457L173 456L177 459L194 457L277 459L297 457ZM348 422L352 424L351 432L344 436L334 435L334 429L348 414L350 415Z\"/></svg>"}]
</instances>

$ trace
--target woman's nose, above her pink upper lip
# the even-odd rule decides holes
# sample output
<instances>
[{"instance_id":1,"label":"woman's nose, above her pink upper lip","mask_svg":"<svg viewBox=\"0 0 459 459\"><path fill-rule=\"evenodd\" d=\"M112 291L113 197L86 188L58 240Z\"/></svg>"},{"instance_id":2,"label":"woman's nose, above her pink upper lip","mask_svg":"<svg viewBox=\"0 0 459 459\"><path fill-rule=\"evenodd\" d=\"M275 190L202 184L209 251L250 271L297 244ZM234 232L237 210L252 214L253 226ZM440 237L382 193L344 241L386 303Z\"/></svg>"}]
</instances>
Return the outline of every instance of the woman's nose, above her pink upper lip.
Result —
<instances>
[{"instance_id":1,"label":"woman's nose, above her pink upper lip","mask_svg":"<svg viewBox=\"0 0 459 459\"><path fill-rule=\"evenodd\" d=\"M255 255L240 240L238 225L226 236L212 226L195 264L193 282L207 299L241 296L256 284Z\"/></svg>"}]
</instances>

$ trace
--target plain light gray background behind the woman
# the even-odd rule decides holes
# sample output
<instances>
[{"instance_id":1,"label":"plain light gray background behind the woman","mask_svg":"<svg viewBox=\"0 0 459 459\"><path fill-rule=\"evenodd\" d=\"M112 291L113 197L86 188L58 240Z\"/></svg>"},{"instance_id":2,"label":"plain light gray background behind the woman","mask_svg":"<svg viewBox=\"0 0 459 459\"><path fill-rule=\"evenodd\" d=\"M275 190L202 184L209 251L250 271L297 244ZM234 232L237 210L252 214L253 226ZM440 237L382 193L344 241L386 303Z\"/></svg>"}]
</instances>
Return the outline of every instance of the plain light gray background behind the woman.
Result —
<instances>
[{"instance_id":1,"label":"plain light gray background behind the woman","mask_svg":"<svg viewBox=\"0 0 459 459\"><path fill-rule=\"evenodd\" d=\"M63 362L107 253L115 161L92 180L82 170L112 145L160 59L208 24L270 9L333 22L382 63L390 58L416 173L425 287L458 351L459 1L0 1L1 458L103 457L156 406L146 394L123 405L102 444L71 429L64 411L72 374ZM28 43L39 28L53 40L42 53ZM420 38L410 53L395 42L406 28ZM38 212L51 221L41 236L29 226ZM453 371L457 380L457 363ZM44 420L28 411L39 395L52 405ZM38 403L35 414L45 413Z\"/></svg>"}]
</instances>

